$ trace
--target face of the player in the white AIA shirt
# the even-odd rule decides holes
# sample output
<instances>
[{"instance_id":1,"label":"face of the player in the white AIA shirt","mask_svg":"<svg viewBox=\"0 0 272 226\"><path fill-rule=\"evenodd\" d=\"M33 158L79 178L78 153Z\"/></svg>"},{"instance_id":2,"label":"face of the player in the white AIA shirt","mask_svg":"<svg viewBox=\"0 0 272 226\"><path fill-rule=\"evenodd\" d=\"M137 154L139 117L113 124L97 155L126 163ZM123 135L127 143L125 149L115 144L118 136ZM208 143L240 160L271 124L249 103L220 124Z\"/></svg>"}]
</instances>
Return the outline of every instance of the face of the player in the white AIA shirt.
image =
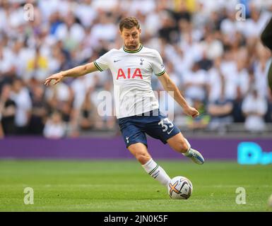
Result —
<instances>
[{"instance_id":1,"label":"face of the player in the white AIA shirt","mask_svg":"<svg viewBox=\"0 0 272 226\"><path fill-rule=\"evenodd\" d=\"M136 27L131 29L123 28L121 33L121 37L124 40L124 47L129 50L138 49L138 45L140 44L140 34L141 28L137 29Z\"/></svg>"}]
</instances>

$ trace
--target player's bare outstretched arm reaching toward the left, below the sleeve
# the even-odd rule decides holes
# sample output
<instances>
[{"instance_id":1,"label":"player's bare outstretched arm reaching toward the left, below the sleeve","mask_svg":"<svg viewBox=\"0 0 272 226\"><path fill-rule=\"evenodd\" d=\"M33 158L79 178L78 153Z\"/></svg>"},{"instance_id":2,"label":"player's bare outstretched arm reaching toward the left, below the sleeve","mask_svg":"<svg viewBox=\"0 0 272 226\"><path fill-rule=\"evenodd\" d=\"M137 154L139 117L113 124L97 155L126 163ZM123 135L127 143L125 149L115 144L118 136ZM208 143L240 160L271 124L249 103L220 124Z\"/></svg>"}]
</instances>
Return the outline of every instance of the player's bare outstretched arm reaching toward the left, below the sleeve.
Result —
<instances>
[{"instance_id":1,"label":"player's bare outstretched arm reaching toward the left, below the sleeve","mask_svg":"<svg viewBox=\"0 0 272 226\"><path fill-rule=\"evenodd\" d=\"M94 62L81 65L81 66L76 66L73 69L69 69L67 71L61 71L59 73L54 73L54 75L49 76L48 78L45 79L45 85L48 86L52 80L55 81L54 85L56 85L65 77L85 76L86 74L92 73L95 71L99 71L99 69L97 69L97 66L95 66Z\"/></svg>"}]
</instances>

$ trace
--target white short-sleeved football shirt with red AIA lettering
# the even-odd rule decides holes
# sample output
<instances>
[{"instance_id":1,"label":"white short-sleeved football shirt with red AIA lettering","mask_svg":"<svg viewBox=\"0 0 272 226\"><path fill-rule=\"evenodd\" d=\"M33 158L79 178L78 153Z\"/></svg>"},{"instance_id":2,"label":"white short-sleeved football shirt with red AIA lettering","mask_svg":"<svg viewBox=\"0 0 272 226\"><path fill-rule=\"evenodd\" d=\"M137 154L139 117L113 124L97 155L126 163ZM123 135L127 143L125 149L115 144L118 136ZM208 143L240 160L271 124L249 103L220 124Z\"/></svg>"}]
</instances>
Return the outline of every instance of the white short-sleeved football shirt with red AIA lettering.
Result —
<instances>
[{"instance_id":1,"label":"white short-sleeved football shirt with red AIA lettering","mask_svg":"<svg viewBox=\"0 0 272 226\"><path fill-rule=\"evenodd\" d=\"M110 69L114 84L114 105L117 119L159 108L151 88L151 76L165 73L162 57L155 49L140 47L129 51L111 49L95 62L100 71Z\"/></svg>"}]
</instances>

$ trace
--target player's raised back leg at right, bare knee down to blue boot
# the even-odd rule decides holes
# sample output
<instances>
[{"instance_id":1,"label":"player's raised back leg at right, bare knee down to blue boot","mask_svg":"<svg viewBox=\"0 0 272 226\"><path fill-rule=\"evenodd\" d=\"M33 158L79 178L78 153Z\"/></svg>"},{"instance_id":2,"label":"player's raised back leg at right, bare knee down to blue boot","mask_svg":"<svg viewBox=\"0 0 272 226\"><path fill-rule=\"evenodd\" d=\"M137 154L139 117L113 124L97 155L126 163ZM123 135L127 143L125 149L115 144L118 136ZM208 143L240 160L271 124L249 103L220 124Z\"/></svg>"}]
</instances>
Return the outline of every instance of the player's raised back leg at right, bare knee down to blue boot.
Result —
<instances>
[{"instance_id":1,"label":"player's raised back leg at right, bare knee down to blue boot","mask_svg":"<svg viewBox=\"0 0 272 226\"><path fill-rule=\"evenodd\" d=\"M184 138L182 133L179 132L175 136L172 136L167 140L167 143L173 150L176 150L177 152L182 153L182 155L191 158L191 160L193 160L196 164L201 165L204 163L204 158L201 153L191 148L190 143L186 138Z\"/></svg>"}]
</instances>

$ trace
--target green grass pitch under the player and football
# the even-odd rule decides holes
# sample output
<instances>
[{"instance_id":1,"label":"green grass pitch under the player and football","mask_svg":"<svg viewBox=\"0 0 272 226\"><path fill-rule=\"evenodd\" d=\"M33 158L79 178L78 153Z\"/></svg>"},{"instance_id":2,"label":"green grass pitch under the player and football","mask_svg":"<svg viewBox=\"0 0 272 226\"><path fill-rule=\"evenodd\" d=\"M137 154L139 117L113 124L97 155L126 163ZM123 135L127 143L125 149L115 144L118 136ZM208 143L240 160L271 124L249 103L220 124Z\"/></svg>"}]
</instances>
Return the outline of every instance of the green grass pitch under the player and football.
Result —
<instances>
[{"instance_id":1,"label":"green grass pitch under the player and football","mask_svg":"<svg viewBox=\"0 0 272 226\"><path fill-rule=\"evenodd\" d=\"M188 177L187 200L172 200L136 160L0 160L0 211L271 211L271 165L157 161L170 177ZM23 190L34 189L25 205ZM237 187L246 190L238 205Z\"/></svg>"}]
</instances>

